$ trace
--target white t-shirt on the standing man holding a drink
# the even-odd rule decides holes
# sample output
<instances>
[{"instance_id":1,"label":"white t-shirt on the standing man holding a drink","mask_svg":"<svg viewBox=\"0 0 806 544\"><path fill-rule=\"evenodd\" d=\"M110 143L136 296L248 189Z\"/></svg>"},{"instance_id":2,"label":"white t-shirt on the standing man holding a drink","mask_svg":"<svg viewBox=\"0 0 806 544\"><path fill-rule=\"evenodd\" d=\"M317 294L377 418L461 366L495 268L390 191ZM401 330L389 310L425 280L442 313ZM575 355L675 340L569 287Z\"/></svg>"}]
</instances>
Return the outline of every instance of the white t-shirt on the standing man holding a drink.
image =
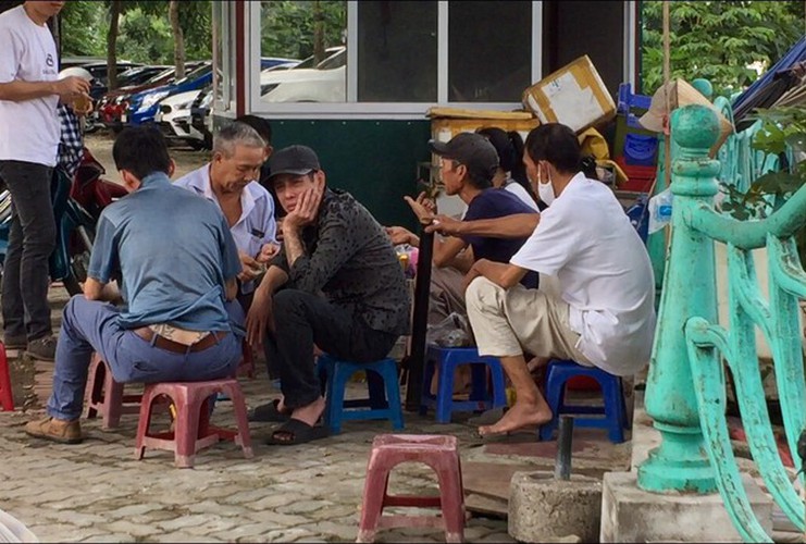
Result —
<instances>
[{"instance_id":1,"label":"white t-shirt on the standing man holding a drink","mask_svg":"<svg viewBox=\"0 0 806 544\"><path fill-rule=\"evenodd\" d=\"M22 5L0 14L0 83L52 82L59 77L55 41ZM51 95L13 102L0 100L0 160L55 165L61 135Z\"/></svg>"}]
</instances>

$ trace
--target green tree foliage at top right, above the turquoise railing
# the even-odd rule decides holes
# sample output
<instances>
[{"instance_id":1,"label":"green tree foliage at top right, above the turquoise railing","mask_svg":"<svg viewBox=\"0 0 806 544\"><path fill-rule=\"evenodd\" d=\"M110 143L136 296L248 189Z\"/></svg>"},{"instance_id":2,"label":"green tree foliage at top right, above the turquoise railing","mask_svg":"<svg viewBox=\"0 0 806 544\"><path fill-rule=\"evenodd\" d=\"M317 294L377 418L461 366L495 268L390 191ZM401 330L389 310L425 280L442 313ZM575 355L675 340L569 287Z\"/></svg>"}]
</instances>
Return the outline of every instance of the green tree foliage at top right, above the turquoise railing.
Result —
<instances>
[{"instance_id":1,"label":"green tree foliage at top right, above the turquoise railing","mask_svg":"<svg viewBox=\"0 0 806 544\"><path fill-rule=\"evenodd\" d=\"M705 77L716 95L726 97L756 81L749 64L771 66L804 32L802 0L668 3L671 76L690 82ZM641 3L644 95L654 94L664 81L662 4Z\"/></svg>"}]
</instances>

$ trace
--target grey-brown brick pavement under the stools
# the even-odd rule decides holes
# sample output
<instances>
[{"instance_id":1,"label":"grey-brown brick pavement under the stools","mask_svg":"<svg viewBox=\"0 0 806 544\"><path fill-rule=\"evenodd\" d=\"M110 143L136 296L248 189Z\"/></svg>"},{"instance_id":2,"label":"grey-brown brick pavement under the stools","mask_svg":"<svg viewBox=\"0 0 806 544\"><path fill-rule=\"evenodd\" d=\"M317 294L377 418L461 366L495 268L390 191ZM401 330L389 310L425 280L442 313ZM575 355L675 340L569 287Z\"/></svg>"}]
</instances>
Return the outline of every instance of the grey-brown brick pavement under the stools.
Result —
<instances>
[{"instance_id":1,"label":"grey-brown brick pavement under the stools","mask_svg":"<svg viewBox=\"0 0 806 544\"><path fill-rule=\"evenodd\" d=\"M58 326L66 293L54 288L50 298ZM23 425L42 413L52 364L9 355L14 379L21 382L15 400L25 406L24 411L0 412L0 509L25 523L40 541L355 541L370 446L375 434L389 432L388 422L345 422L338 436L292 447L264 445L272 424L252 423L253 459L244 459L240 448L226 442L199 453L194 469L176 469L170 452L147 450L142 460L134 459L136 415L123 416L114 431L102 431L98 419L82 420L87 440L80 445L29 440ZM278 394L265 379L264 368L259 371L262 375L255 380L241 379L252 406ZM350 384L348 396L362 393L364 385ZM466 420L436 424L432 418L406 412L405 432L456 435L464 462L525 462L535 470L550 470L556 443L481 445L475 428L461 422ZM154 423L166 428L168 416L156 416ZM213 424L234 425L228 401L216 404ZM585 430L580 431L574 441L575 469L597 473L627 469L629 443L611 446L604 437L590 438ZM396 494L436 494L437 486L424 465L407 463L392 473L389 489ZM513 542L506 520L479 515L468 521L466 537ZM442 542L443 534L397 529L381 531L377 539Z\"/></svg>"}]
</instances>

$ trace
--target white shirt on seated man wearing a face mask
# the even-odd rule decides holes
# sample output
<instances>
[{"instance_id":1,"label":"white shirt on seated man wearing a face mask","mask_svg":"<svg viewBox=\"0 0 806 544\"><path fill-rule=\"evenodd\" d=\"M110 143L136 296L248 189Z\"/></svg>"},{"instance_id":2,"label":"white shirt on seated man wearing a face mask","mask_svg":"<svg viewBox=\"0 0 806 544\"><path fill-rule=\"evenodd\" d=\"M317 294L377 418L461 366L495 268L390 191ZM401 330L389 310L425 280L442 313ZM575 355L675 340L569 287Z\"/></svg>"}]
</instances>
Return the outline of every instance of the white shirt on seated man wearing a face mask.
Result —
<instances>
[{"instance_id":1,"label":"white shirt on seated man wearing a face mask","mask_svg":"<svg viewBox=\"0 0 806 544\"><path fill-rule=\"evenodd\" d=\"M605 184L576 174L541 214L510 260L556 275L570 307L578 348L617 375L649 360L655 335L655 280L646 247Z\"/></svg>"}]
</instances>

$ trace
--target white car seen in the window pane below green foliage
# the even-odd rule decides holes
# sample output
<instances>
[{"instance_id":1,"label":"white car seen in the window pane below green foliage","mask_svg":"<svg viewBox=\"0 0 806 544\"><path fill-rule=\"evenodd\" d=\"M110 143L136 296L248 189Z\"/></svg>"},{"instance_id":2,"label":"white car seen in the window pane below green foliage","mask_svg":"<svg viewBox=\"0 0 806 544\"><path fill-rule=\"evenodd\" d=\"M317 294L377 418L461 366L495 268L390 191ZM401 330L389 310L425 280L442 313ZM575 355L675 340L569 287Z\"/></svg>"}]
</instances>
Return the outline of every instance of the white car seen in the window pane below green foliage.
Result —
<instances>
[{"instance_id":1,"label":"white car seen in the window pane below green foliage","mask_svg":"<svg viewBox=\"0 0 806 544\"><path fill-rule=\"evenodd\" d=\"M312 58L297 66L260 74L263 102L344 102L346 99L347 48L325 50L327 57L311 67Z\"/></svg>"}]
</instances>

